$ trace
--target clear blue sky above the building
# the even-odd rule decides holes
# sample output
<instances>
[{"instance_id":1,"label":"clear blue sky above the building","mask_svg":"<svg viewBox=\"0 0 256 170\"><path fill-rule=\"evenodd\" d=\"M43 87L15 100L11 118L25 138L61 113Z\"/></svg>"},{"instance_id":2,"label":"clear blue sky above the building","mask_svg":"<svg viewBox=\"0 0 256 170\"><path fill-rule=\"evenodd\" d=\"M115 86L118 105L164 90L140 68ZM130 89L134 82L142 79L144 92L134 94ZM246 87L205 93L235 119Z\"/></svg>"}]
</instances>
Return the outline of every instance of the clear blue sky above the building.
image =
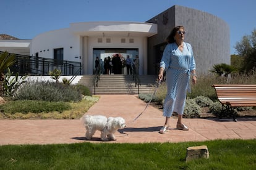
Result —
<instances>
[{"instance_id":1,"label":"clear blue sky above the building","mask_svg":"<svg viewBox=\"0 0 256 170\"><path fill-rule=\"evenodd\" d=\"M201 10L228 23L230 53L256 29L255 0L0 0L0 34L33 39L70 23L146 22L174 5ZM221 41L221 39L220 39Z\"/></svg>"}]
</instances>

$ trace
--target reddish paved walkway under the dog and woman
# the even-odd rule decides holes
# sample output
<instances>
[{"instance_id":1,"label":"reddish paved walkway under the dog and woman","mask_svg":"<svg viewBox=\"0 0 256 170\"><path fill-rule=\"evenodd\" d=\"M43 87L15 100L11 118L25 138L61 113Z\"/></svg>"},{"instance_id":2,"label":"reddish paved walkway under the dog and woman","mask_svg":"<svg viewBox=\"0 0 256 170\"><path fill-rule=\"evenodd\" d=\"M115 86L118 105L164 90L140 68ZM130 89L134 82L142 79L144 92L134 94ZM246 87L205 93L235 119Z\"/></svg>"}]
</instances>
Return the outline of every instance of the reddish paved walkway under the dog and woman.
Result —
<instances>
[{"instance_id":1,"label":"reddish paved walkway under the dog and woman","mask_svg":"<svg viewBox=\"0 0 256 170\"><path fill-rule=\"evenodd\" d=\"M256 118L232 119L200 118L184 119L189 131L176 129L177 118L171 118L171 129L166 134L158 131L163 126L162 111L149 106L137 95L101 95L99 102L86 114L122 116L127 127L116 132L116 141L106 143L186 142L213 139L255 139ZM85 140L85 128L79 119L25 119L0 120L0 145L7 144L70 144L101 142L100 132L92 140Z\"/></svg>"}]
</instances>

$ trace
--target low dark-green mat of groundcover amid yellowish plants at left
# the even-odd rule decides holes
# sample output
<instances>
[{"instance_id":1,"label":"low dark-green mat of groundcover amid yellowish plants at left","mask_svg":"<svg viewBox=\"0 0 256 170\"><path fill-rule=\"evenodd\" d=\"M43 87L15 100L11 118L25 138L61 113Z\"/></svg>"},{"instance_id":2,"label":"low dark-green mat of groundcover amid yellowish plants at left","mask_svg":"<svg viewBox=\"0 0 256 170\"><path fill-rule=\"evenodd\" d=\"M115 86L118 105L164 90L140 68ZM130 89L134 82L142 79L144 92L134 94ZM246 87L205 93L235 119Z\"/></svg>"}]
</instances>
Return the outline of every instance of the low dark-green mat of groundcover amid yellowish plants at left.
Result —
<instances>
[{"instance_id":1,"label":"low dark-green mat of groundcover amid yellowish plants at left","mask_svg":"<svg viewBox=\"0 0 256 170\"><path fill-rule=\"evenodd\" d=\"M50 111L70 110L69 103L64 102L46 102L38 100L17 100L9 101L0 105L1 112L3 113L41 113Z\"/></svg>"}]
</instances>

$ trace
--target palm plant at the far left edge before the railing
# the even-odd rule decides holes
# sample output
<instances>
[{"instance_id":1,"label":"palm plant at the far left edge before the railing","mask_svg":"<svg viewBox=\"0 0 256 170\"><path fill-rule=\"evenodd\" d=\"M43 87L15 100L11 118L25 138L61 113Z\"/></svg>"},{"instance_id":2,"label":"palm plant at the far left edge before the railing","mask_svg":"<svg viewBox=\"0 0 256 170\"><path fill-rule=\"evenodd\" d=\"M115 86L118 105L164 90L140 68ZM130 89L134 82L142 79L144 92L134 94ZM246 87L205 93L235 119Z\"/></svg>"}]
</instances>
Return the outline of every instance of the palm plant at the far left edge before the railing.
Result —
<instances>
[{"instance_id":1,"label":"palm plant at the far left edge before the railing","mask_svg":"<svg viewBox=\"0 0 256 170\"><path fill-rule=\"evenodd\" d=\"M15 55L9 54L7 51L0 54L0 96L4 94L4 71L15 63Z\"/></svg>"}]
</instances>

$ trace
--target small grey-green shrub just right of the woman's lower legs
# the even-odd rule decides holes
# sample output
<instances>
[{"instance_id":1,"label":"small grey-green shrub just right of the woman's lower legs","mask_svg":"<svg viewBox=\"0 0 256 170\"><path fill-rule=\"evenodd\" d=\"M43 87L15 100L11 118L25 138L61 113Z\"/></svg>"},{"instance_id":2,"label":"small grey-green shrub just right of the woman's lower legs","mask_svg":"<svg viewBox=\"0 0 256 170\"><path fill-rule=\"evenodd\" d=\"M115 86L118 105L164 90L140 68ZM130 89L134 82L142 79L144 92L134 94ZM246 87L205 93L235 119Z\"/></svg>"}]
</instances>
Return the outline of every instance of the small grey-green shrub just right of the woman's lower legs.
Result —
<instances>
[{"instance_id":1,"label":"small grey-green shrub just right of the woman's lower legs","mask_svg":"<svg viewBox=\"0 0 256 170\"><path fill-rule=\"evenodd\" d=\"M184 118L199 118L200 113L202 113L202 109L200 106L195 102L194 99L187 99L186 105L184 108L183 116Z\"/></svg>"}]
</instances>

